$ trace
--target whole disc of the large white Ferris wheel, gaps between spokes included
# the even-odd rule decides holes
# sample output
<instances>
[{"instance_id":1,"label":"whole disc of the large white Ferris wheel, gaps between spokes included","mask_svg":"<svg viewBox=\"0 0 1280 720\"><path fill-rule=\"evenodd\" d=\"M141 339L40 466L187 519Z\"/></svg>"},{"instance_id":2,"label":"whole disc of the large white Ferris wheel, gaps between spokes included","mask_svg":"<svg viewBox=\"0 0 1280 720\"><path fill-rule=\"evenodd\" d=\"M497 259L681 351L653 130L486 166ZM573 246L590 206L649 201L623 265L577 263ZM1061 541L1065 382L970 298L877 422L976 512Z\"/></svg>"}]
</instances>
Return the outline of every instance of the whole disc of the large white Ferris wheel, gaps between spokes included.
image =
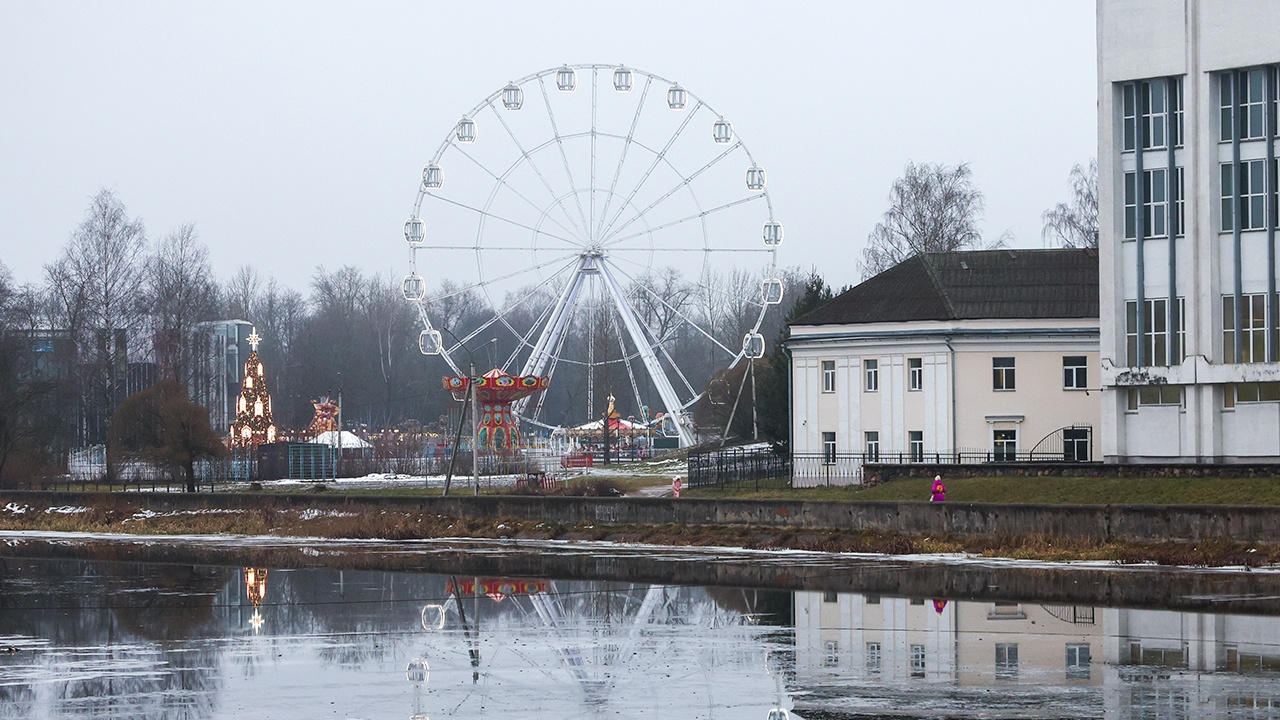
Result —
<instances>
[{"instance_id":1,"label":"whole disc of the large white Ferris wheel, gaps between spokes included","mask_svg":"<svg viewBox=\"0 0 1280 720\"><path fill-rule=\"evenodd\" d=\"M543 70L472 108L424 168L404 237L422 352L461 374L460 347L500 334L504 370L553 389L575 373L589 415L596 384L630 383L681 445L708 374L762 356L782 300L764 169L701 99L617 65ZM564 423L541 402L516 411Z\"/></svg>"}]
</instances>

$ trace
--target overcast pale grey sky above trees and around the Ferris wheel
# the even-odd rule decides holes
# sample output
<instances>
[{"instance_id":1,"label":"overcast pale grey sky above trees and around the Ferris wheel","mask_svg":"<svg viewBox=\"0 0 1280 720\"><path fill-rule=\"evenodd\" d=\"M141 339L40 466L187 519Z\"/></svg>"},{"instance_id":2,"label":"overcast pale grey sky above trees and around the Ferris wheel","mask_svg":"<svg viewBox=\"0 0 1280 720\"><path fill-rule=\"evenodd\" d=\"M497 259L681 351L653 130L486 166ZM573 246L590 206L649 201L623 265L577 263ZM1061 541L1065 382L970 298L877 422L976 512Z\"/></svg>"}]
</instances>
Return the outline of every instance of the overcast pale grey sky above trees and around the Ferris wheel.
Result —
<instances>
[{"instance_id":1,"label":"overcast pale grey sky above trees and around the Ferris wheel","mask_svg":"<svg viewBox=\"0 0 1280 720\"><path fill-rule=\"evenodd\" d=\"M782 265L858 281L902 167L970 163L983 229L1039 247L1097 152L1094 4L0 0L0 259L38 281L90 199L193 223L218 278L402 275L422 165L465 111L562 63L622 63L731 117Z\"/></svg>"}]
</instances>

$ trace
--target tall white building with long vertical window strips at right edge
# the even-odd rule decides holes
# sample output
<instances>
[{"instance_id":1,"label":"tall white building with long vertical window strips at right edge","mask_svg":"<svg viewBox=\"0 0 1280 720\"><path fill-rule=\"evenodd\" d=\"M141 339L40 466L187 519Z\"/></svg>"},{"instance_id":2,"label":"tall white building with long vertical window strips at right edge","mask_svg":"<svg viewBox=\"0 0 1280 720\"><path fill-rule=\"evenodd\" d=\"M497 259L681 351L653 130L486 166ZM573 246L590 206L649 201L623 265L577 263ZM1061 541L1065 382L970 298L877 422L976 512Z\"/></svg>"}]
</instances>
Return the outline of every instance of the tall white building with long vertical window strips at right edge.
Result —
<instances>
[{"instance_id":1,"label":"tall white building with long vertical window strips at right edge","mask_svg":"<svg viewBox=\"0 0 1280 720\"><path fill-rule=\"evenodd\" d=\"M1098 3L1102 454L1280 460L1280 3Z\"/></svg>"}]
</instances>

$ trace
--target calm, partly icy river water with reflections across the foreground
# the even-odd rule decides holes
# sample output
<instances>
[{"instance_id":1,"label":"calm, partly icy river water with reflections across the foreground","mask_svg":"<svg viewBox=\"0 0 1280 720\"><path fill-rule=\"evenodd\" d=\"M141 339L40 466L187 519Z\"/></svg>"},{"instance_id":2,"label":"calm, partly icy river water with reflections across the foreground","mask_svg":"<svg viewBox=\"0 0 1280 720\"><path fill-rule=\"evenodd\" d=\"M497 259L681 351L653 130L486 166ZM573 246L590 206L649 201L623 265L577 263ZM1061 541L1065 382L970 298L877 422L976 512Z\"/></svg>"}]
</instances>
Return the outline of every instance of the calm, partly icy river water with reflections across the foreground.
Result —
<instances>
[{"instance_id":1,"label":"calm, partly icy river water with reflections across the foreground","mask_svg":"<svg viewBox=\"0 0 1280 720\"><path fill-rule=\"evenodd\" d=\"M1271 571L603 543L0 543L3 719L1280 717Z\"/></svg>"}]
</instances>

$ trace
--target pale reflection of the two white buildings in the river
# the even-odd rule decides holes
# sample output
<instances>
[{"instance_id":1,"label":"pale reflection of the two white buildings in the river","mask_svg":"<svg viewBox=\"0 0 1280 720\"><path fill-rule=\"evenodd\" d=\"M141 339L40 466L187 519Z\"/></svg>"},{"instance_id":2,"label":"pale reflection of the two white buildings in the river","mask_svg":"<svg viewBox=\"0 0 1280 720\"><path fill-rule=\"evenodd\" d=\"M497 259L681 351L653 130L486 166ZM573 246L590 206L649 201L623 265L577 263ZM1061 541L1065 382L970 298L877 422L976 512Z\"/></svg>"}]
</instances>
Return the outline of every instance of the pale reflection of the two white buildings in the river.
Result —
<instances>
[{"instance_id":1,"label":"pale reflection of the two white buildings in the river","mask_svg":"<svg viewBox=\"0 0 1280 720\"><path fill-rule=\"evenodd\" d=\"M1082 717L1280 717L1274 618L797 592L795 628L795 683L819 707L923 716L1001 688L1010 706L1066 693Z\"/></svg>"}]
</instances>

